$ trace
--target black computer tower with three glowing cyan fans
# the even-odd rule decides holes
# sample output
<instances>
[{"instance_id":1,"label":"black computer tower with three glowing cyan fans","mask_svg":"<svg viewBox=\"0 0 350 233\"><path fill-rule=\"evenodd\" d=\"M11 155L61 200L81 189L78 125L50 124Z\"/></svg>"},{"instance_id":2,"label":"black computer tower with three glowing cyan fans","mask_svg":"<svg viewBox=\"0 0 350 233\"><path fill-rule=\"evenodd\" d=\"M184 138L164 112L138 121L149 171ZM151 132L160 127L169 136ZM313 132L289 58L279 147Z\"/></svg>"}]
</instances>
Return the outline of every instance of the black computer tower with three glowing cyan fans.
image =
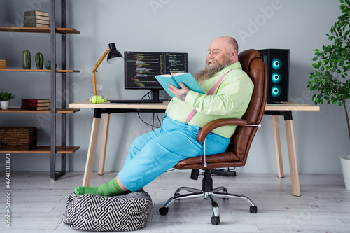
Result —
<instances>
[{"instance_id":1,"label":"black computer tower with three glowing cyan fans","mask_svg":"<svg viewBox=\"0 0 350 233\"><path fill-rule=\"evenodd\" d=\"M288 101L289 55L288 49L258 50L267 66L267 103Z\"/></svg>"}]
</instances>

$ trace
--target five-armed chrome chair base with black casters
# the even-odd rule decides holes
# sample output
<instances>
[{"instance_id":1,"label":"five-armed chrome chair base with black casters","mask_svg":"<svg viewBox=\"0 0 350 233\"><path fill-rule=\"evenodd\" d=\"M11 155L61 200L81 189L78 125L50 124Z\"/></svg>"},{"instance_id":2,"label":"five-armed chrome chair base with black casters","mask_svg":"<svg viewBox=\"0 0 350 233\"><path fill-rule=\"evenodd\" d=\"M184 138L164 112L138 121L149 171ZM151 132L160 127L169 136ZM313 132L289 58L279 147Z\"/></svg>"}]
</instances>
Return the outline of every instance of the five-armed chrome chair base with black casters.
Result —
<instances>
[{"instance_id":1,"label":"five-armed chrome chair base with black casters","mask_svg":"<svg viewBox=\"0 0 350 233\"><path fill-rule=\"evenodd\" d=\"M175 191L174 196L170 197L168 201L165 203L165 205L159 209L160 215L165 216L169 211L169 205L172 204L172 202L174 202L175 200L191 199L191 198L197 198L197 197L204 197L204 199L209 200L209 203L211 204L211 209L213 210L213 215L214 215L211 217L211 224L213 225L218 225L220 223L220 209L219 209L218 203L214 200L214 197L221 197L223 199L229 199L229 198L245 199L251 204L249 212L251 213L258 212L258 207L254 204L254 202L251 199L249 199L244 195L230 194L228 193L228 190L223 186L213 189L212 181L213 180L211 179L211 171L206 170L204 173L202 190L197 188L190 188L190 187L178 188ZM180 195L181 190L186 190L190 193L185 195Z\"/></svg>"}]
</instances>

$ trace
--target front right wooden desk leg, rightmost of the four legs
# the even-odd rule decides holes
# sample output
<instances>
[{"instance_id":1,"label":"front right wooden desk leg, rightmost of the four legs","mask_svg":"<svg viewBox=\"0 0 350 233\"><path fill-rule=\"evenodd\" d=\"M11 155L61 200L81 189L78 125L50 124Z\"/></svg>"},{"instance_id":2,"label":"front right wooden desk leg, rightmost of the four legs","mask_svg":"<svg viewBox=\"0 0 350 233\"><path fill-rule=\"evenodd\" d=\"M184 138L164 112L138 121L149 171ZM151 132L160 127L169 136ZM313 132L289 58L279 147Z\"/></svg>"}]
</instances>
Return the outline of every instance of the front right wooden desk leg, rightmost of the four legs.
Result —
<instances>
[{"instance_id":1,"label":"front right wooden desk leg, rightmost of the four legs","mask_svg":"<svg viewBox=\"0 0 350 233\"><path fill-rule=\"evenodd\" d=\"M295 153L293 120L285 120L284 122L286 124L290 178L292 180L293 195L300 197L301 195L300 195L299 174L297 172L297 155Z\"/></svg>"}]
</instances>

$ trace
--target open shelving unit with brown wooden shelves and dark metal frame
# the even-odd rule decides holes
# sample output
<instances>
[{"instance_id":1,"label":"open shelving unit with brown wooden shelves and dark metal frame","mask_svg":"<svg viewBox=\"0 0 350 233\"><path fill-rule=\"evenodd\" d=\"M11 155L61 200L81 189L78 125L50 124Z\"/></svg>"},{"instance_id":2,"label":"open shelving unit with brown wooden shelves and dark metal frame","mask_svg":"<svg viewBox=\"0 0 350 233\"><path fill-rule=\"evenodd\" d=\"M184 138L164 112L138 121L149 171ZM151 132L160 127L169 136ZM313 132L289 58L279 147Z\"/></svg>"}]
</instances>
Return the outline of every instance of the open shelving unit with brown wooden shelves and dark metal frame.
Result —
<instances>
[{"instance_id":1,"label":"open shelving unit with brown wooden shelves and dark metal frame","mask_svg":"<svg viewBox=\"0 0 350 233\"><path fill-rule=\"evenodd\" d=\"M50 73L50 109L41 111L22 110L20 108L0 109L0 113L49 113L50 114L50 146L37 146L33 150L0 150L0 153L50 153L50 178L55 181L66 172L66 153L74 153L80 147L66 146L66 113L76 113L80 109L66 108L66 73L79 73L76 70L66 69L66 34L80 34L72 28L66 28L66 0L61 1L61 27L56 27L56 0L50 0L50 28L38 27L0 27L1 31L19 33L50 33L50 60L56 64L56 34L61 34L61 70L38 70L38 69L0 69L1 72L47 72ZM62 80L62 106L56 108L56 74L61 74ZM62 114L61 118L61 145L56 145L56 115ZM61 170L56 171L56 154L61 155Z\"/></svg>"}]
</instances>

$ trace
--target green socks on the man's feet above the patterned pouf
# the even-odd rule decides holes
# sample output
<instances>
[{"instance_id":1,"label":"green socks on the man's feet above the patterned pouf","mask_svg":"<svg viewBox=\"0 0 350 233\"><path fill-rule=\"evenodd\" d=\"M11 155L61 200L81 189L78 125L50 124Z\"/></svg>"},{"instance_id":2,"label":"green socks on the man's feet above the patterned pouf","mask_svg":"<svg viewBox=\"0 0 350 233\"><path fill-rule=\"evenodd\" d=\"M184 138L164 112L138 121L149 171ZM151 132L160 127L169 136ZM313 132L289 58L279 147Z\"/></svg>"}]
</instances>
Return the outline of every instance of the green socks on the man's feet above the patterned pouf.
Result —
<instances>
[{"instance_id":1,"label":"green socks on the man's feet above the patterned pouf","mask_svg":"<svg viewBox=\"0 0 350 233\"><path fill-rule=\"evenodd\" d=\"M116 178L113 178L113 180L109 181L109 183L105 183L104 185L100 185L98 187L79 186L76 188L77 196L83 195L83 194L94 194L94 195L111 197L111 196L120 195L123 192L127 192L127 191L124 191L119 187L116 181Z\"/></svg>"}]
</instances>

